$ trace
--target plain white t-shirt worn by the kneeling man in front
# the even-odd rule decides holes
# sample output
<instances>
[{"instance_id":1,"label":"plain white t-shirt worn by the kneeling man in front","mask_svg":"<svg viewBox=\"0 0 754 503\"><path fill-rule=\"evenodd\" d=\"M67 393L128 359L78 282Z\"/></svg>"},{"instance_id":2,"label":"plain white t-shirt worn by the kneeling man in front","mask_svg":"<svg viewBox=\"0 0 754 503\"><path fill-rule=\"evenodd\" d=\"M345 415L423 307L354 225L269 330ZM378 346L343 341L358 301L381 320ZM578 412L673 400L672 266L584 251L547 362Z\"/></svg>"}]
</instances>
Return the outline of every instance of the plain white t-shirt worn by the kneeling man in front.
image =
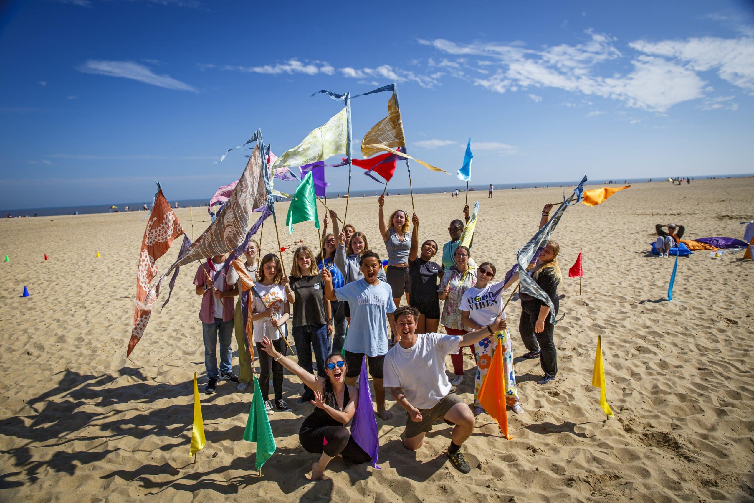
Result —
<instances>
[{"instance_id":1,"label":"plain white t-shirt worn by the kneeling man in front","mask_svg":"<svg viewBox=\"0 0 754 503\"><path fill-rule=\"evenodd\" d=\"M450 393L445 355L458 353L461 336L418 333L410 348L394 345L385 355L385 388L401 388L417 409L431 409Z\"/></svg>"}]
</instances>

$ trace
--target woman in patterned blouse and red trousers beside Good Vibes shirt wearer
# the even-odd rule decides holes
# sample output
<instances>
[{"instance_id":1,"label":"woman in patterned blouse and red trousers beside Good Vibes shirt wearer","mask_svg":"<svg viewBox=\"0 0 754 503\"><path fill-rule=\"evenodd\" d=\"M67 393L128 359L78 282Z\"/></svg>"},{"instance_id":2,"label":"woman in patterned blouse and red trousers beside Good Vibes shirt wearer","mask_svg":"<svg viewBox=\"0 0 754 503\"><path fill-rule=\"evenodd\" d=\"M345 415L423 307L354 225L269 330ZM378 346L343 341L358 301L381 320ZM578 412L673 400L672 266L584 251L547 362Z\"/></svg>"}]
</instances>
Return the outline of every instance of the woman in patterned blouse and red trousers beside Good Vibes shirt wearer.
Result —
<instances>
[{"instance_id":1,"label":"woman in patterned blouse and red trousers beside Good Vibes shirt wearer","mask_svg":"<svg viewBox=\"0 0 754 503\"><path fill-rule=\"evenodd\" d=\"M445 301L443 312L440 315L440 323L445 327L449 336L463 336L471 329L463 324L461 318L461 297L466 290L477 282L477 269L469 266L471 253L467 247L458 246L453 253L455 265L446 269L440 288L437 290L437 298ZM467 346L474 352L473 346ZM464 380L464 348L458 348L457 354L451 354L453 363L453 377L450 384L458 386Z\"/></svg>"}]
</instances>

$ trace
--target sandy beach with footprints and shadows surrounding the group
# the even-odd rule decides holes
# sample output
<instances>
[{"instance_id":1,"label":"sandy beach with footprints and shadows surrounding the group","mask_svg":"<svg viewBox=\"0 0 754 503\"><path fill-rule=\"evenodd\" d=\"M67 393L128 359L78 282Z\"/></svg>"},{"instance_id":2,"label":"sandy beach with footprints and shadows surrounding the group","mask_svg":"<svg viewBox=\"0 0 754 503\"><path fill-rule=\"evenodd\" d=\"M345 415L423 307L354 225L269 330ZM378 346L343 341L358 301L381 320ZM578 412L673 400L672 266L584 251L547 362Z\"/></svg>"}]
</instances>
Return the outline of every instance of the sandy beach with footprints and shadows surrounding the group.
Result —
<instances>
[{"instance_id":1,"label":"sandy beach with footprints and shadows surrounding the group","mask_svg":"<svg viewBox=\"0 0 754 503\"><path fill-rule=\"evenodd\" d=\"M469 204L481 203L477 262L494 262L504 274L535 233L542 205L562 201L564 190L505 190L492 199L470 193ZM170 186L164 192L172 201ZM390 401L394 418L378 423L382 470L336 459L318 483L305 478L315 457L298 440L313 406L294 405L300 382L290 374L284 397L293 413L271 416L277 452L261 477L254 444L241 439L253 394L229 383L201 394L207 446L196 462L189 458L193 374L201 389L205 381L192 285L197 264L182 268L170 304L155 310L132 360L125 357L146 213L3 219L0 256L10 261L0 264L0 501L752 501L754 262L743 261L743 252L679 259L673 301L665 302L674 259L648 254L657 223L685 225L687 239L743 238L739 222L754 216L752 195L754 178L653 182L597 207L569 208L553 235L566 276L556 382L535 383L538 360L521 359L520 303L507 308L526 409L509 413L513 440L478 416L462 448L472 471L463 475L443 453L451 427L436 424L425 446L409 452L400 440L405 411ZM447 241L464 195L418 195L414 202L420 238ZM343 216L345 200L329 204ZM287 206L276 204L290 271L293 241L318 244L311 222L288 234ZM388 212L411 207L409 195L385 205ZM192 213L196 238L209 217L204 208ZM189 209L176 215L191 236ZM268 222L263 253L277 250ZM348 222L385 254L377 198L354 198ZM178 248L176 241L158 261L161 271ZM578 278L567 278L580 248L581 296ZM21 297L24 286L28 298ZM608 420L591 386L597 336L615 412ZM470 353L465 369L458 392L471 403Z\"/></svg>"}]
</instances>

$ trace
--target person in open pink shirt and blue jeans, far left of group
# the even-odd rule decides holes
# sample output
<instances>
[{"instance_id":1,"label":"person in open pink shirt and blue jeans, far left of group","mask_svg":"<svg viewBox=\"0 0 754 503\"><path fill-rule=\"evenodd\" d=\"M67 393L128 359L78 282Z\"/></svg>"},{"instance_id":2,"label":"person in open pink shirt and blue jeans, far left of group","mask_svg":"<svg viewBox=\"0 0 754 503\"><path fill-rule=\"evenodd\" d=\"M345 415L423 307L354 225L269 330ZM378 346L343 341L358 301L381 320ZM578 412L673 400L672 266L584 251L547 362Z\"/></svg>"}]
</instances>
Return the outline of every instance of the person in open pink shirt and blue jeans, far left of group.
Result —
<instances>
[{"instance_id":1,"label":"person in open pink shirt and blue jeans, far left of group","mask_svg":"<svg viewBox=\"0 0 754 503\"><path fill-rule=\"evenodd\" d=\"M238 295L238 275L234 268L226 270L227 277L220 275L216 282L212 281L216 271L222 268L228 254L213 256L207 262L199 265L194 284L196 294L201 295L201 320L204 335L204 367L207 369L207 386L204 393L213 394L217 381L238 382L231 364L231 337L233 336L233 322L235 305L233 297ZM220 342L220 368L217 368L217 342Z\"/></svg>"}]
</instances>

